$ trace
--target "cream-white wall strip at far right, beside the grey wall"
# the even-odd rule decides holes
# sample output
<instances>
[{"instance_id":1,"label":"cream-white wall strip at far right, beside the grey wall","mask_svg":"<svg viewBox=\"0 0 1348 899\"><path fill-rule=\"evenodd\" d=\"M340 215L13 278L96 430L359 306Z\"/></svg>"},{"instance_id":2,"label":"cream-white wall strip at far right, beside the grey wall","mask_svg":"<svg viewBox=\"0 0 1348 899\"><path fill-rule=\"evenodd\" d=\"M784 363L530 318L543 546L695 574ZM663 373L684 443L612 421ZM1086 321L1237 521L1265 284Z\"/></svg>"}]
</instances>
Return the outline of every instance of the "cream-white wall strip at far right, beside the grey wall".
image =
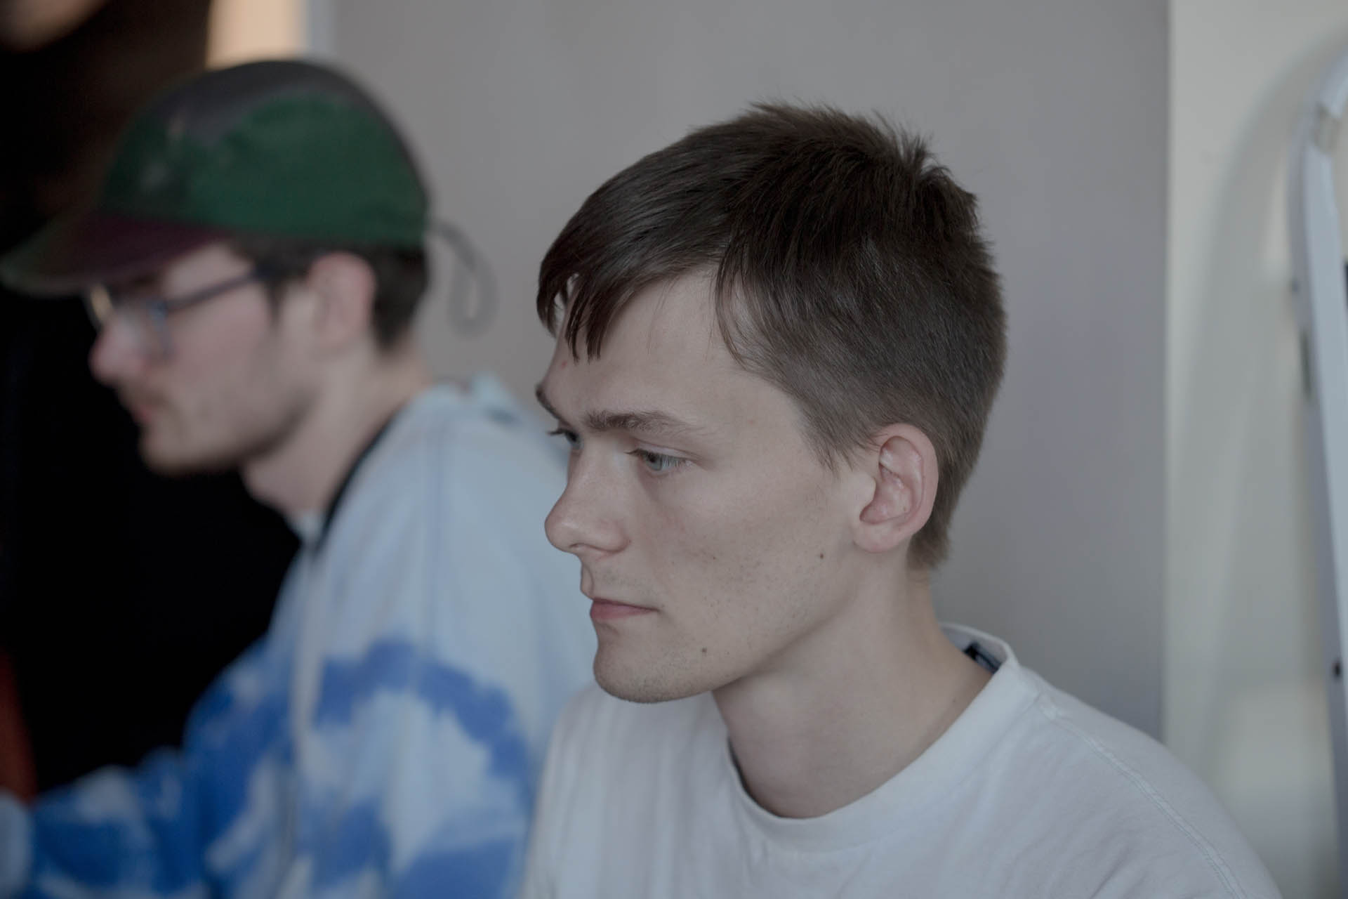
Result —
<instances>
[{"instance_id":1,"label":"cream-white wall strip at far right, beside the grey wall","mask_svg":"<svg viewBox=\"0 0 1348 899\"><path fill-rule=\"evenodd\" d=\"M1163 732L1289 899L1339 890L1283 187L1344 47L1343 0L1171 8Z\"/></svg>"}]
</instances>

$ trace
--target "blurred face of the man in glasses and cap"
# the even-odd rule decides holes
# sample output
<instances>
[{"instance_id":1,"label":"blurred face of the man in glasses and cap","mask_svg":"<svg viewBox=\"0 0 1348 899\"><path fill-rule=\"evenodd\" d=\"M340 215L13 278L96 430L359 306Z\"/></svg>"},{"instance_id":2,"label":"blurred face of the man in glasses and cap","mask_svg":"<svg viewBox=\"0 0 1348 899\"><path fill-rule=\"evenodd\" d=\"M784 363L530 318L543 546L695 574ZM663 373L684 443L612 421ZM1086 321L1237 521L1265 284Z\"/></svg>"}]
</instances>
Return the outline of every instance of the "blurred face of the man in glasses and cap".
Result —
<instances>
[{"instance_id":1,"label":"blurred face of the man in glasses and cap","mask_svg":"<svg viewBox=\"0 0 1348 899\"><path fill-rule=\"evenodd\" d=\"M239 278L248 260L217 243L185 253L152 278L124 286L164 298ZM313 395L301 329L274 311L266 287L248 282L173 311L170 352L152 334L115 315L89 354L94 376L117 390L142 427L150 468L186 473L233 468L284 442Z\"/></svg>"}]
</instances>

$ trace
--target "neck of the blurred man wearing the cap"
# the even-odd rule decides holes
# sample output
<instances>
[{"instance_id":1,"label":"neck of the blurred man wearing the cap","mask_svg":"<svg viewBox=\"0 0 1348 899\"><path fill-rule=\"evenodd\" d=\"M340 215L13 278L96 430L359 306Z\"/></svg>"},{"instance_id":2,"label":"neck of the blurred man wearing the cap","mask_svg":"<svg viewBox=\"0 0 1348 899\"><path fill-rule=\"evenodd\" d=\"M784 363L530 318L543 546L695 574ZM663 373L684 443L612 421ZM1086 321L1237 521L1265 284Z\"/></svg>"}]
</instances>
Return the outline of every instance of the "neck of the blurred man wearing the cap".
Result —
<instances>
[{"instance_id":1,"label":"neck of the blurred man wearing the cap","mask_svg":"<svg viewBox=\"0 0 1348 899\"><path fill-rule=\"evenodd\" d=\"M430 383L410 348L333 372L286 441L243 465L248 492L291 518L325 509L379 429Z\"/></svg>"}]
</instances>

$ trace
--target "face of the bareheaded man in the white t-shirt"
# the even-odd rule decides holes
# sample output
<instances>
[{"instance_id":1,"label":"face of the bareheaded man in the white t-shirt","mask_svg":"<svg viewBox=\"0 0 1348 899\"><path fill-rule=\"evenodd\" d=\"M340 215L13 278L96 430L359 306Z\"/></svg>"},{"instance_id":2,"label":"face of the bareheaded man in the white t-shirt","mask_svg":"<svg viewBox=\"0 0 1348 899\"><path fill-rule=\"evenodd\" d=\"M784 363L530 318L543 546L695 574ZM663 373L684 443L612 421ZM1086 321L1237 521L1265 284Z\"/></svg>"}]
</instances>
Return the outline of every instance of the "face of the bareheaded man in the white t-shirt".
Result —
<instances>
[{"instance_id":1,"label":"face of the bareheaded man in the white t-shirt","mask_svg":"<svg viewBox=\"0 0 1348 899\"><path fill-rule=\"evenodd\" d=\"M789 670L852 586L838 477L791 399L735 364L710 290L644 291L590 361L559 340L539 391L573 443L547 536L581 559L594 677L628 700Z\"/></svg>"}]
</instances>

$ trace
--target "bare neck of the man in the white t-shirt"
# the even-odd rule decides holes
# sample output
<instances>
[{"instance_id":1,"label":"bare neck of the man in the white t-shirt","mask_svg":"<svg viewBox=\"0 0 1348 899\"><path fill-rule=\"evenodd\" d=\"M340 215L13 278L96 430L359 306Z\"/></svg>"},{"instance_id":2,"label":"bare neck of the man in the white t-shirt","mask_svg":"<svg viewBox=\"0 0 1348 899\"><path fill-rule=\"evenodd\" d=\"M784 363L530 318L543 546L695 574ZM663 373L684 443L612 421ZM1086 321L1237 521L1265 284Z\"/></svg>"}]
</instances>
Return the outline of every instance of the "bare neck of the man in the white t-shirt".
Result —
<instances>
[{"instance_id":1,"label":"bare neck of the man in the white t-shirt","mask_svg":"<svg viewBox=\"0 0 1348 899\"><path fill-rule=\"evenodd\" d=\"M774 814L813 818L874 791L988 682L941 632L923 577L902 596L882 584L772 670L714 691L744 786Z\"/></svg>"}]
</instances>

